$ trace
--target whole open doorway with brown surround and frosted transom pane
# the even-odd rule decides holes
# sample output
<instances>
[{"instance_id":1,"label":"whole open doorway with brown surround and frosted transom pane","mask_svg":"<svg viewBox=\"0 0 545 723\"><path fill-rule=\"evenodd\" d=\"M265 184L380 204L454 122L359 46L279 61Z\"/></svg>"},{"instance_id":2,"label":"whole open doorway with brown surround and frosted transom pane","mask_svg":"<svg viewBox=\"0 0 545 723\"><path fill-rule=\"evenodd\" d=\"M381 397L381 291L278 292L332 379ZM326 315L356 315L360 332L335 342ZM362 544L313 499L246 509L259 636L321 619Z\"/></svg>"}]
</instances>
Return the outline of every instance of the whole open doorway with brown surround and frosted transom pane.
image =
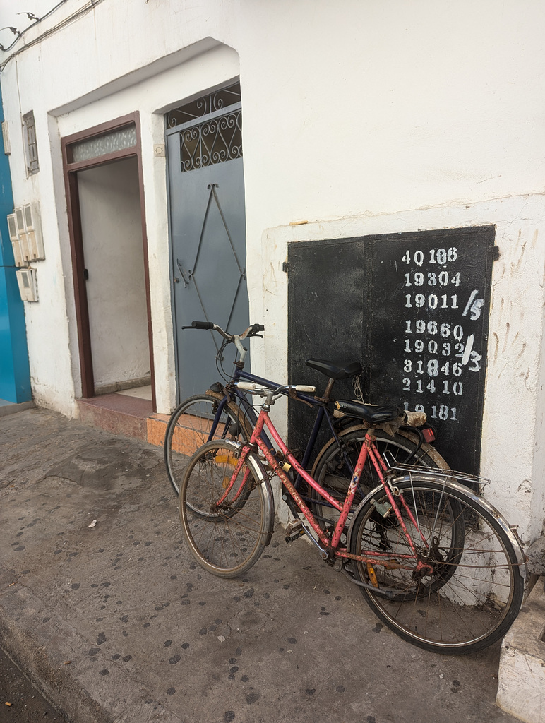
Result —
<instances>
[{"instance_id":1,"label":"whole open doorway with brown surround and frosted transom pane","mask_svg":"<svg viewBox=\"0 0 545 723\"><path fill-rule=\"evenodd\" d=\"M82 398L148 387L155 410L139 131L126 116L62 147Z\"/></svg>"}]
</instances>

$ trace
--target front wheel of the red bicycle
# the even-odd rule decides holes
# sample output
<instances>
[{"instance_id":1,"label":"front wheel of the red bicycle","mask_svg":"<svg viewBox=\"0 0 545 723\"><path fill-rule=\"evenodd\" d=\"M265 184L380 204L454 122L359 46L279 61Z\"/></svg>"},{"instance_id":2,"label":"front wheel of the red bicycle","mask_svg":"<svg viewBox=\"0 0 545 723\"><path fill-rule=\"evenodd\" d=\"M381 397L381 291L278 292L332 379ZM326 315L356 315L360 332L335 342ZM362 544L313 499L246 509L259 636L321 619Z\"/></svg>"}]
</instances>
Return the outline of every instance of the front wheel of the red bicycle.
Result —
<instances>
[{"instance_id":1,"label":"front wheel of the red bicycle","mask_svg":"<svg viewBox=\"0 0 545 723\"><path fill-rule=\"evenodd\" d=\"M179 514L186 542L202 568L234 578L257 562L273 534L273 491L256 455L244 460L244 493L234 500L237 484L218 508L238 463L240 447L229 440L207 442L189 460L179 495ZM197 510L197 511L194 511Z\"/></svg>"}]
</instances>

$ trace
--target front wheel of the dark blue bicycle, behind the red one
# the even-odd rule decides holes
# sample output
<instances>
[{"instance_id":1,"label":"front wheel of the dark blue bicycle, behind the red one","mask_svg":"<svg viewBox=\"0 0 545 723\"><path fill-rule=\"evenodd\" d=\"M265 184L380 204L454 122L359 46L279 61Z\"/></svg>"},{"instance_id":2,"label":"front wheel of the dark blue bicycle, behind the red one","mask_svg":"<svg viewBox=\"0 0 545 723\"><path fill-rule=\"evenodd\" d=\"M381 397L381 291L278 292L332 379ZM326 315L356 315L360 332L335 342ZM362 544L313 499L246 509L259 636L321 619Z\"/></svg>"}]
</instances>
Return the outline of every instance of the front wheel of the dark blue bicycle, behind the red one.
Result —
<instances>
[{"instance_id":1,"label":"front wheel of the dark blue bicycle, behind the red one","mask_svg":"<svg viewBox=\"0 0 545 723\"><path fill-rule=\"evenodd\" d=\"M209 390L185 399L171 414L165 432L163 453L168 479L176 495L189 458L210 436L210 425L224 396ZM226 403L222 418L215 431L215 439L247 442L252 436L251 425L244 419L238 406Z\"/></svg>"}]
</instances>

